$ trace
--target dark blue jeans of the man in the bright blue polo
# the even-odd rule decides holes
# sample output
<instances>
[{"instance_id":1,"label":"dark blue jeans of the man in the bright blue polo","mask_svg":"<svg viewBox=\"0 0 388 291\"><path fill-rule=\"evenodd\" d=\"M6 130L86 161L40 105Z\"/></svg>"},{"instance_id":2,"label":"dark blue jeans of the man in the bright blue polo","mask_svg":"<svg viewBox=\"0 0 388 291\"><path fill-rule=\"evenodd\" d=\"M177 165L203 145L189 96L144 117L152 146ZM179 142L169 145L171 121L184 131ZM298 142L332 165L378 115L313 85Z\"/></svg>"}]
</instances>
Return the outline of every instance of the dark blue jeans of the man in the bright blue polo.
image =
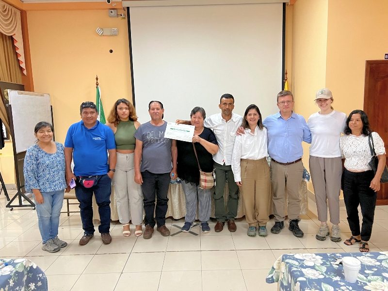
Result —
<instances>
[{"instance_id":1,"label":"dark blue jeans of the man in the bright blue polo","mask_svg":"<svg viewBox=\"0 0 388 291\"><path fill-rule=\"evenodd\" d=\"M98 226L100 233L109 233L111 224L111 189L112 180L108 175L96 176L97 181L91 188L83 187L78 181L76 186L76 196L80 202L81 221L84 234L93 234L93 193L96 197L98 213L101 224Z\"/></svg>"}]
</instances>

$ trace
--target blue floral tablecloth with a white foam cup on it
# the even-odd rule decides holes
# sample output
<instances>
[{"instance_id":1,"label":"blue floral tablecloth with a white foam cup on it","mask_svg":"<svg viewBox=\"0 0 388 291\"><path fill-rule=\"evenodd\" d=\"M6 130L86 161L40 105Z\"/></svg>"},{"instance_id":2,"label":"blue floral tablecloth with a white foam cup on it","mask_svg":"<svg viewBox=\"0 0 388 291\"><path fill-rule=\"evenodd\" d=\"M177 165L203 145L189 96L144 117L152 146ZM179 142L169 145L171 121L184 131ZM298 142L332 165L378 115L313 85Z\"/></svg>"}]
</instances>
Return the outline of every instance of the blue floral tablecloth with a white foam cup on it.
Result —
<instances>
[{"instance_id":1,"label":"blue floral tablecloth with a white foam cup on it","mask_svg":"<svg viewBox=\"0 0 388 291\"><path fill-rule=\"evenodd\" d=\"M349 283L337 259L355 257L361 261L356 283ZM280 256L266 278L278 282L280 291L388 291L388 252L286 254Z\"/></svg>"}]
</instances>

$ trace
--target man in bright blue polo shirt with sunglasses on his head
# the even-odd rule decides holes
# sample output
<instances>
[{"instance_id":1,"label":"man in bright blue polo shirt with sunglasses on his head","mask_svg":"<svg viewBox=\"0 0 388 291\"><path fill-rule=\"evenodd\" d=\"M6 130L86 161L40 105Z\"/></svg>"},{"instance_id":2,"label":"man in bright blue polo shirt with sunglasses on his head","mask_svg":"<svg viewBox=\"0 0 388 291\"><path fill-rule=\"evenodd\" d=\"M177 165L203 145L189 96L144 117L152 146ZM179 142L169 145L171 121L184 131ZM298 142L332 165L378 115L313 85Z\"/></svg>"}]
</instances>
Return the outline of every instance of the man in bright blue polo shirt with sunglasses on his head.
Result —
<instances>
[{"instance_id":1,"label":"man in bright blue polo shirt with sunglasses on his head","mask_svg":"<svg viewBox=\"0 0 388 291\"><path fill-rule=\"evenodd\" d=\"M116 166L116 144L112 129L97 120L96 104L87 101L80 107L81 121L67 130L65 140L66 181L76 181L76 196L80 202L84 234L80 245L94 236L92 196L96 197L101 224L98 231L104 244L112 242L111 183ZM109 158L108 158L109 153ZM71 162L74 161L74 173Z\"/></svg>"}]
</instances>

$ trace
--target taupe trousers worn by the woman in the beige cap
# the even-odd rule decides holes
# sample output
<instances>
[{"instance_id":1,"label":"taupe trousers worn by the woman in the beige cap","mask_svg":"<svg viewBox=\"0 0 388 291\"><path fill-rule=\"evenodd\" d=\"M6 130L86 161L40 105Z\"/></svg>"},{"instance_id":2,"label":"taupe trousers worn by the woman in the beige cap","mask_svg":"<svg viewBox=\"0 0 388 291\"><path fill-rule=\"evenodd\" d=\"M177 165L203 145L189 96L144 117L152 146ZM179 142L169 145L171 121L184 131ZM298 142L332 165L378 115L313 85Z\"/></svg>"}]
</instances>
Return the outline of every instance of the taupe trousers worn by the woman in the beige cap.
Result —
<instances>
[{"instance_id":1,"label":"taupe trousers worn by the woman in the beige cap","mask_svg":"<svg viewBox=\"0 0 388 291\"><path fill-rule=\"evenodd\" d=\"M328 204L330 222L332 224L339 224L339 190L341 188L342 176L341 157L320 158L310 156L309 165L319 221L327 221Z\"/></svg>"}]
</instances>

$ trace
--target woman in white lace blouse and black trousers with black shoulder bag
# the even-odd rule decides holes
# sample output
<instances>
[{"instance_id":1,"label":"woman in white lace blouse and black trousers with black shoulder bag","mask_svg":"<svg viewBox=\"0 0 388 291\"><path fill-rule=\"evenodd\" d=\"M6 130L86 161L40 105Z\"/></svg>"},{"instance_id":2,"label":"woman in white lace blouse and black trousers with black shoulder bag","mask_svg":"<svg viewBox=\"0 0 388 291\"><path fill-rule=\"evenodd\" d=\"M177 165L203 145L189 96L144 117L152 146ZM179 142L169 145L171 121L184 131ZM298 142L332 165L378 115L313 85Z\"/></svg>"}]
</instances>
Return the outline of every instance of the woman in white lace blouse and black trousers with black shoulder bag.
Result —
<instances>
[{"instance_id":1,"label":"woman in white lace blouse and black trousers with black shoulder bag","mask_svg":"<svg viewBox=\"0 0 388 291\"><path fill-rule=\"evenodd\" d=\"M362 110L354 110L346 121L345 135L339 139L345 169L342 175L342 190L348 222L352 236L344 243L352 245L360 242L360 252L369 252L376 207L376 192L380 190L380 178L386 163L384 142L377 132L369 128L368 116ZM378 158L376 174L369 162L372 159L369 139L372 137ZM358 218L358 205L361 207L362 226Z\"/></svg>"}]
</instances>

